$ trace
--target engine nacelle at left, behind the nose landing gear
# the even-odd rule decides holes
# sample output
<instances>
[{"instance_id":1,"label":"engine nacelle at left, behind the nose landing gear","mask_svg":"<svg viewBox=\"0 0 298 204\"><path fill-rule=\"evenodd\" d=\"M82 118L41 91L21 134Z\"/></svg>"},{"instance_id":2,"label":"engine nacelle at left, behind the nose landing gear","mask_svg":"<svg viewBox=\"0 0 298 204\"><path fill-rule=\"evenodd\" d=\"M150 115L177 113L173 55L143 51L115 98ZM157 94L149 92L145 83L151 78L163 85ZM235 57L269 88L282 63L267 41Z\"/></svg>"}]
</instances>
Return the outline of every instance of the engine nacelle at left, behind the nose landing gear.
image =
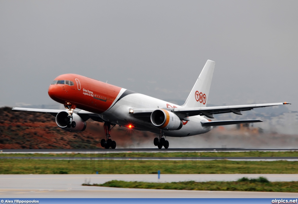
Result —
<instances>
[{"instance_id":1,"label":"engine nacelle at left, behind the nose landing gear","mask_svg":"<svg viewBox=\"0 0 298 204\"><path fill-rule=\"evenodd\" d=\"M68 112L61 111L56 116L57 125L65 131L69 132L81 132L86 129L86 122L77 114L72 114L72 121L75 122L75 127L67 127L67 122L69 122Z\"/></svg>"}]
</instances>

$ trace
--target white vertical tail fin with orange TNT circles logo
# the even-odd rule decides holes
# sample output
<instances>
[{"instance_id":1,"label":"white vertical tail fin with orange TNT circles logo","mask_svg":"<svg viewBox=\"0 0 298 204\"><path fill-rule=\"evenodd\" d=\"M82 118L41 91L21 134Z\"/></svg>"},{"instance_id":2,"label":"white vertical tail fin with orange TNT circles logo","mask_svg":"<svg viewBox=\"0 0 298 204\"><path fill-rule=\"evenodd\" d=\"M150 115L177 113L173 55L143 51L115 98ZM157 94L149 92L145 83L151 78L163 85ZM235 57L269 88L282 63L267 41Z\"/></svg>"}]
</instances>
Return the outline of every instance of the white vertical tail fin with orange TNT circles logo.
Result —
<instances>
[{"instance_id":1,"label":"white vertical tail fin with orange TNT circles logo","mask_svg":"<svg viewBox=\"0 0 298 204\"><path fill-rule=\"evenodd\" d=\"M214 61L207 60L198 80L195 82L193 89L183 105L185 108L206 107L214 66Z\"/></svg>"}]
</instances>

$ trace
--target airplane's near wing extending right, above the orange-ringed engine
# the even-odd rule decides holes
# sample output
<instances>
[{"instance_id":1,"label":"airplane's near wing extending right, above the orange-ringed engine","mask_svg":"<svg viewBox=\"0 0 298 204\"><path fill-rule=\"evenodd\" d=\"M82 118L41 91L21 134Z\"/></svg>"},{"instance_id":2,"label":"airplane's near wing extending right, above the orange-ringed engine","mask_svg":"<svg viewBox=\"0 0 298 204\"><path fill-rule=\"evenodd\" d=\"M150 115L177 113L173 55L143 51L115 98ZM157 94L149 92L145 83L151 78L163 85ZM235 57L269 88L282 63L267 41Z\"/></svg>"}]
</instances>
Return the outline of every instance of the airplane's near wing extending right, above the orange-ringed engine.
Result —
<instances>
[{"instance_id":1,"label":"airplane's near wing extending right, above the orange-ringed engine","mask_svg":"<svg viewBox=\"0 0 298 204\"><path fill-rule=\"evenodd\" d=\"M213 114L221 113L235 113L242 115L241 111L252 110L254 108L262 108L276 105L291 104L287 102L283 103L265 103L265 104L253 104L253 105L232 105L232 106L214 106L214 107L198 107L198 108L174 108L174 112L181 115L181 118L189 116L206 116L208 118L214 118ZM183 117L184 116L184 117Z\"/></svg>"}]
</instances>

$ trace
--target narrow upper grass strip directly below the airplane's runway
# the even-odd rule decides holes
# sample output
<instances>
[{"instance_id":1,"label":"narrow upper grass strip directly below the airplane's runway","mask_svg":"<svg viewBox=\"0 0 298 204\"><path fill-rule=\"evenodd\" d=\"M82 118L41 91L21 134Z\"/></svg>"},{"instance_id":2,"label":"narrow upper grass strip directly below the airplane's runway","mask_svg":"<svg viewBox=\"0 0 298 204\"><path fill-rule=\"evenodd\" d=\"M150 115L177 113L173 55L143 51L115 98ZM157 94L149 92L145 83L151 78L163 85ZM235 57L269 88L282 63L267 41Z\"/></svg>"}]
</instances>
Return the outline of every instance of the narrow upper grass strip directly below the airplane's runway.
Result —
<instances>
[{"instance_id":1,"label":"narrow upper grass strip directly below the airplane's runway","mask_svg":"<svg viewBox=\"0 0 298 204\"><path fill-rule=\"evenodd\" d=\"M50 152L51 150L49 150ZM0 153L1 157L298 157L298 151L285 152L124 152L99 154L28 154L28 153Z\"/></svg>"}]
</instances>

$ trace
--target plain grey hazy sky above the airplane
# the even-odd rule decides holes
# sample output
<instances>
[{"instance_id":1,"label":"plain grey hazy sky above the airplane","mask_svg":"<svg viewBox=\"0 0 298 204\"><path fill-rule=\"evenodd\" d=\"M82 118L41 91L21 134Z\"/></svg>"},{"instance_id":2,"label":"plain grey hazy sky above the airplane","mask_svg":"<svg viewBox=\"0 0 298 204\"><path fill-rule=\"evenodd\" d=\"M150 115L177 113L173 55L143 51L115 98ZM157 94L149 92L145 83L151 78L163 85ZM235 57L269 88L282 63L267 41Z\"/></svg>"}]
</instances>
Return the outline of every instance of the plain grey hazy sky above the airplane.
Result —
<instances>
[{"instance_id":1,"label":"plain grey hazy sky above the airplane","mask_svg":"<svg viewBox=\"0 0 298 204\"><path fill-rule=\"evenodd\" d=\"M0 0L0 106L54 103L75 73L185 100L208 59L207 103L292 102L298 110L298 1Z\"/></svg>"}]
</instances>

